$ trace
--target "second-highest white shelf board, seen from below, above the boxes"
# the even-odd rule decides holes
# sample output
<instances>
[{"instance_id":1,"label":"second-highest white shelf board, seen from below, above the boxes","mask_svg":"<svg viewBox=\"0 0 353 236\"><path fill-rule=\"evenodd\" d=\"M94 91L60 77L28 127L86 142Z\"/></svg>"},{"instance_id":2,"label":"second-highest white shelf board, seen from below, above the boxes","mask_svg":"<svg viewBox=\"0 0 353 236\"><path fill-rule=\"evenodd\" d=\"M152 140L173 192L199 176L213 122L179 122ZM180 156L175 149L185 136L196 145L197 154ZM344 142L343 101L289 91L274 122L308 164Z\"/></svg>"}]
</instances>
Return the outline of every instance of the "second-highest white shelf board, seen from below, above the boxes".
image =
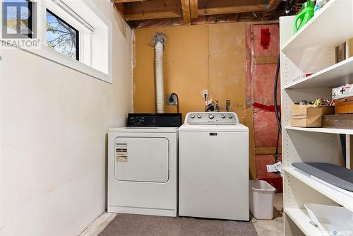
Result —
<instances>
[{"instance_id":1,"label":"second-highest white shelf board, seen from below, above the boxes","mask_svg":"<svg viewBox=\"0 0 353 236\"><path fill-rule=\"evenodd\" d=\"M353 83L353 57L289 84L291 88L335 88Z\"/></svg>"}]
</instances>

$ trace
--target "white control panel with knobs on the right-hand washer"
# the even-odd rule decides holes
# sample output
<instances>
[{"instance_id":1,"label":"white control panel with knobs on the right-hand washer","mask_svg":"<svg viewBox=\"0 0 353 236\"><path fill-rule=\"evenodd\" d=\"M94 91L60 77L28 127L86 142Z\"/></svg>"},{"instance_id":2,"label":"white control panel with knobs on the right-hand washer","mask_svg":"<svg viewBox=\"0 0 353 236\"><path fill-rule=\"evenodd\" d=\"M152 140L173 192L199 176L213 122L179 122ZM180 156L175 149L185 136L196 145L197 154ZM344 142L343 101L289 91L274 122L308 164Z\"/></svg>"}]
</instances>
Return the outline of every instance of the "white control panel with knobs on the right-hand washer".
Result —
<instances>
[{"instance_id":1,"label":"white control panel with knobs on the right-hand washer","mask_svg":"<svg viewBox=\"0 0 353 236\"><path fill-rule=\"evenodd\" d=\"M186 114L185 124L239 124L234 112L190 112Z\"/></svg>"}]
</instances>

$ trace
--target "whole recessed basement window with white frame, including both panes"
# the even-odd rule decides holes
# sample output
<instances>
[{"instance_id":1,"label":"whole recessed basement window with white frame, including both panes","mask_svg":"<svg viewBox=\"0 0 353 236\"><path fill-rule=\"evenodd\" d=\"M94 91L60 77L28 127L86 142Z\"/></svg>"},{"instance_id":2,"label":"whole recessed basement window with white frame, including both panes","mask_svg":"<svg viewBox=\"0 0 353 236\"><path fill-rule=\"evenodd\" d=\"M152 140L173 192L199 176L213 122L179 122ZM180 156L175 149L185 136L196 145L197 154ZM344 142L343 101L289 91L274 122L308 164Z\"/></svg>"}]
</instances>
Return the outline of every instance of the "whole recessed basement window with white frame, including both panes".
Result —
<instances>
[{"instance_id":1,"label":"whole recessed basement window with white frame, including both panes","mask_svg":"<svg viewBox=\"0 0 353 236\"><path fill-rule=\"evenodd\" d=\"M2 0L0 6L1 41L30 38L38 47L18 47L112 83L113 24L94 1Z\"/></svg>"}]
</instances>

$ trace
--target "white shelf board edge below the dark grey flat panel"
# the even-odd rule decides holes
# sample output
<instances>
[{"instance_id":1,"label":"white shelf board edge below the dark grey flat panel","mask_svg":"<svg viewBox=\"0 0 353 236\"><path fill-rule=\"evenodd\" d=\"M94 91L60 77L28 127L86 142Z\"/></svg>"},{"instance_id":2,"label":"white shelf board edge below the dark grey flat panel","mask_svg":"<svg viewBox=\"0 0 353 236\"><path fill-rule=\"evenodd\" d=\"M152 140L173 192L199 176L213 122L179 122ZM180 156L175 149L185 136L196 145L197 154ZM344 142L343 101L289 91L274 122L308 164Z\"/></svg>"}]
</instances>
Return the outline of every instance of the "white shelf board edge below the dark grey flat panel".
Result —
<instances>
[{"instance_id":1,"label":"white shelf board edge below the dark grey flat panel","mask_svg":"<svg viewBox=\"0 0 353 236\"><path fill-rule=\"evenodd\" d=\"M316 191L320 192L321 194L327 196L329 199L335 201L336 203L344 206L349 211L353 211L353 197L347 194L344 194L342 191L337 191L333 187L329 187L322 182L319 182L316 179L311 178L309 175L304 174L296 170L294 167L285 167L285 172L293 177L299 179L304 184L307 184L309 187L315 189Z\"/></svg>"}]
</instances>

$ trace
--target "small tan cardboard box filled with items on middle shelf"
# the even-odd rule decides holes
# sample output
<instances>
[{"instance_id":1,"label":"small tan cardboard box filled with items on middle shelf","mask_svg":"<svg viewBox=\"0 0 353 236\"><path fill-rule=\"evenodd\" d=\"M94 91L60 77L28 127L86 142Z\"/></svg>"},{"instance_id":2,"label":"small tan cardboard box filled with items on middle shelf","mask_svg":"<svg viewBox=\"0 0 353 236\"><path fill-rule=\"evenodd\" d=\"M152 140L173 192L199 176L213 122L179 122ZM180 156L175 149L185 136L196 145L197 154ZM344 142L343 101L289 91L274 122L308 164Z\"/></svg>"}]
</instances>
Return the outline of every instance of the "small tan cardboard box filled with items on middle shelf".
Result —
<instances>
[{"instance_id":1,"label":"small tan cardboard box filled with items on middle shelf","mask_svg":"<svg viewBox=\"0 0 353 236\"><path fill-rule=\"evenodd\" d=\"M322 127L323 114L335 114L335 107L294 104L292 106L291 125L308 128Z\"/></svg>"}]
</instances>

